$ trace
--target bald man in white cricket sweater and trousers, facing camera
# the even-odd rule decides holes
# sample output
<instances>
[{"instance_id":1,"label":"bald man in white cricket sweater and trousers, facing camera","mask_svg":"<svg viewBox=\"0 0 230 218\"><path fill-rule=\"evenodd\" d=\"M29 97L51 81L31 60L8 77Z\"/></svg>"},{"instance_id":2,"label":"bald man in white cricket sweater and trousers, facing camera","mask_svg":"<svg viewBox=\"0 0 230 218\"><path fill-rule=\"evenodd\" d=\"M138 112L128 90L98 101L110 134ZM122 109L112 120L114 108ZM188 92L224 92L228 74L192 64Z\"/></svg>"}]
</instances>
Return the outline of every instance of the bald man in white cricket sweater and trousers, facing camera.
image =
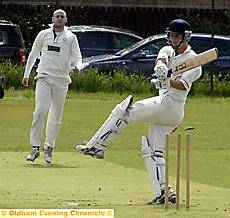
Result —
<instances>
[{"instance_id":1,"label":"bald man in white cricket sweater and trousers, facing camera","mask_svg":"<svg viewBox=\"0 0 230 218\"><path fill-rule=\"evenodd\" d=\"M71 83L69 72L79 72L82 56L76 36L67 28L66 12L58 9L53 13L53 24L42 30L36 37L29 54L22 84L29 85L29 76L36 59L40 59L36 83L35 111L30 131L30 143L33 146L27 161L34 161L40 155L46 115L49 111L44 142L44 160L51 163L52 150L61 127L62 112Z\"/></svg>"}]
</instances>

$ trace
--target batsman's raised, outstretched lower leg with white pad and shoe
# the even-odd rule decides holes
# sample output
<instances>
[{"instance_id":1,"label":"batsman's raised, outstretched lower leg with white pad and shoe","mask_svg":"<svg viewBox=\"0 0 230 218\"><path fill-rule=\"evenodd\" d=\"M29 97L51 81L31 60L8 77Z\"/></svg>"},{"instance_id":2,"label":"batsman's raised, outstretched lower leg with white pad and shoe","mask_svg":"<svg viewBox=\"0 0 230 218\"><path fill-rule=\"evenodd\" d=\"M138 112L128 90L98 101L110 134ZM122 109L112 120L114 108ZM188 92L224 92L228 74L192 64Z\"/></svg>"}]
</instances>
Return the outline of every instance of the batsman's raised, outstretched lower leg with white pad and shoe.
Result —
<instances>
[{"instance_id":1,"label":"batsman's raised, outstretched lower leg with white pad and shoe","mask_svg":"<svg viewBox=\"0 0 230 218\"><path fill-rule=\"evenodd\" d=\"M104 150L107 148L108 142L121 133L127 125L126 115L132 102L133 97L129 95L112 110L107 120L90 141L87 142L86 145L77 145L76 150L80 153L91 155L92 157L103 158Z\"/></svg>"}]
</instances>

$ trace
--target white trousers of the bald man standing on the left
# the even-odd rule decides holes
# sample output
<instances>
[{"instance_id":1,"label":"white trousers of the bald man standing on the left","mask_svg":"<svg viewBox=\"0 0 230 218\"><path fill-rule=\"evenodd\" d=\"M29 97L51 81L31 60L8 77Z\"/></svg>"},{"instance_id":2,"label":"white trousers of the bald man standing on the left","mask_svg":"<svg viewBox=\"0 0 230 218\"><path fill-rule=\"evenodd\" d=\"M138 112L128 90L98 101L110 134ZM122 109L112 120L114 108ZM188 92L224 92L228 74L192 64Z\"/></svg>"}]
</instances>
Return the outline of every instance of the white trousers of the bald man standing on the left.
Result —
<instances>
[{"instance_id":1,"label":"white trousers of the bald man standing on the left","mask_svg":"<svg viewBox=\"0 0 230 218\"><path fill-rule=\"evenodd\" d=\"M30 131L30 143L40 146L45 127L46 115L49 111L46 125L46 139L44 148L55 146L61 127L62 112L68 91L70 78L56 78L40 74L37 79L35 94L35 111Z\"/></svg>"}]
</instances>

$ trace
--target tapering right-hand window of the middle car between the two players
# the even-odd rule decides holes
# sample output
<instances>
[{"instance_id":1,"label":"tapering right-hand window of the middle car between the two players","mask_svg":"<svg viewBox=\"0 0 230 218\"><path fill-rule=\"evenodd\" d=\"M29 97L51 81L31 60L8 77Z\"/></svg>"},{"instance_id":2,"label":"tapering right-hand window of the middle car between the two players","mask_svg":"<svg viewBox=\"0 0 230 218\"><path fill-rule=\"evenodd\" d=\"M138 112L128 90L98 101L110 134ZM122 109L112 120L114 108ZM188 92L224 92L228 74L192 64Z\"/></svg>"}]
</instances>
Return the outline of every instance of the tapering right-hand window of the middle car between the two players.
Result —
<instances>
[{"instance_id":1,"label":"tapering right-hand window of the middle car between the two players","mask_svg":"<svg viewBox=\"0 0 230 218\"><path fill-rule=\"evenodd\" d=\"M126 36L126 35L122 35L122 34L114 34L114 33L110 33L110 36L112 38L111 42L113 45L113 49L115 51L119 51L123 48L128 47L129 45L132 45L134 43L136 43L137 41L139 41L138 38L132 37L132 36Z\"/></svg>"}]
</instances>

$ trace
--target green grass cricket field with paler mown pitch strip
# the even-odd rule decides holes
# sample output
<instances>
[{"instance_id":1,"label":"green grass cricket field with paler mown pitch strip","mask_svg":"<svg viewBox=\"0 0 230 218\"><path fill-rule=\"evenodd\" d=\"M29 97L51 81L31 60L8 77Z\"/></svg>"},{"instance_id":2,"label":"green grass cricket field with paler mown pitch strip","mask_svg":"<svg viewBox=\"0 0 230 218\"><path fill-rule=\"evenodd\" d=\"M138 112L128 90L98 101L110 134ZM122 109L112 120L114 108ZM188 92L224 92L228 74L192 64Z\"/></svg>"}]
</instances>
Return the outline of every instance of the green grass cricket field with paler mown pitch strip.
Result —
<instances>
[{"instance_id":1,"label":"green grass cricket field with paler mown pitch strip","mask_svg":"<svg viewBox=\"0 0 230 218\"><path fill-rule=\"evenodd\" d=\"M145 206L152 191L141 157L146 123L131 124L108 149L104 160L74 151L88 140L125 96L69 94L53 164L43 155L26 163L34 100L7 93L0 101L0 208L114 208L115 217L230 217L230 99L189 98L183 124L191 135L191 208L185 209L182 150L181 209ZM144 96L135 96L135 99ZM145 96L148 97L148 96ZM175 185L175 143L172 136L170 183ZM183 140L184 141L184 140Z\"/></svg>"}]
</instances>

